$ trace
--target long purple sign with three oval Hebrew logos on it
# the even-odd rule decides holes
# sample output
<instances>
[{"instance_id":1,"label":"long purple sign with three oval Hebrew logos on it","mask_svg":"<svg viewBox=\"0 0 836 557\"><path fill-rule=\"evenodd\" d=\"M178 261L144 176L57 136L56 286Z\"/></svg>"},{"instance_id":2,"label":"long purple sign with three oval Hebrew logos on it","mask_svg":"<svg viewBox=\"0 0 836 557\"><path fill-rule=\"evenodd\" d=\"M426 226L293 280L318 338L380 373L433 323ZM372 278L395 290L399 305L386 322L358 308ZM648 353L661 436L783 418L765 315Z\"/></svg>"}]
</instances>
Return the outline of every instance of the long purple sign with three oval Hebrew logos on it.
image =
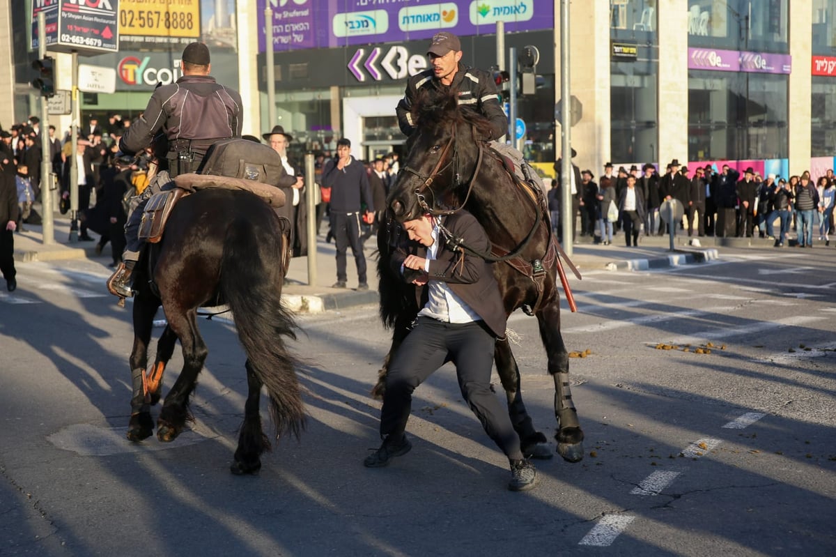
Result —
<instances>
[{"instance_id":1,"label":"long purple sign with three oval Hebrew logos on it","mask_svg":"<svg viewBox=\"0 0 836 557\"><path fill-rule=\"evenodd\" d=\"M553 0L257 0L258 51L265 51L264 9L273 9L275 51L457 35L551 29Z\"/></svg>"}]
</instances>

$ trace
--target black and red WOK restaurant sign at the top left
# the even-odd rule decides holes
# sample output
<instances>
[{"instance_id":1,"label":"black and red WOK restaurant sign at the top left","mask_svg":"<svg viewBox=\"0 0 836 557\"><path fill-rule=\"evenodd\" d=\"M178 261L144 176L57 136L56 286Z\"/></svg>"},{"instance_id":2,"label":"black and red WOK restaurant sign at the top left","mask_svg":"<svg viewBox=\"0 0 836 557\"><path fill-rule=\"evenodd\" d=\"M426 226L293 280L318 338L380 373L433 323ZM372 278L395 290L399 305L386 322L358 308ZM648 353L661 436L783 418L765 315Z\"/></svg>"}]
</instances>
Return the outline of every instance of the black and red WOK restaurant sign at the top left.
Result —
<instances>
[{"instance_id":1,"label":"black and red WOK restaurant sign at the top left","mask_svg":"<svg viewBox=\"0 0 836 557\"><path fill-rule=\"evenodd\" d=\"M32 48L38 49L38 13L46 20L47 49L93 56L119 50L119 0L33 0Z\"/></svg>"}]
</instances>

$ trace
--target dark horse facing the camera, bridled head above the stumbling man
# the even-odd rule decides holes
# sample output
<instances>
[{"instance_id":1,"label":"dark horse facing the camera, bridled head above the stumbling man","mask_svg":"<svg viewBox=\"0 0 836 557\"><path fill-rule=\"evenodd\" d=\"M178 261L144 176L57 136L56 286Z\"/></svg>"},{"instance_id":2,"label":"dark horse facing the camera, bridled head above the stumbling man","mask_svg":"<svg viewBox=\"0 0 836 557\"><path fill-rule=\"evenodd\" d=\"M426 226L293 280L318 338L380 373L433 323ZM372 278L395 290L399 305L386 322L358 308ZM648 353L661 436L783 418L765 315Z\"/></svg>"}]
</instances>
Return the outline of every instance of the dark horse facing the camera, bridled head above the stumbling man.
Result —
<instances>
[{"instance_id":1,"label":"dark horse facing the camera, bridled head above the stumbling man","mask_svg":"<svg viewBox=\"0 0 836 557\"><path fill-rule=\"evenodd\" d=\"M492 253L481 255L502 262L493 269L507 314L523 308L537 316L556 391L558 453L569 462L578 462L584 456L584 432L572 402L568 353L560 335L557 273L563 272L558 261L562 250L551 233L542 193L515 180L502 159L480 141L490 136L487 120L472 110L460 110L455 95L422 93L412 107L412 117L417 130L410 136L405 166L387 199L390 220L380 227L378 237L380 316L393 335L373 394L382 395L389 362L419 309L415 287L393 276L389 268L390 253L405 241L399 222L464 207L482 223L491 240ZM523 404L519 369L507 340L497 341L494 361L523 453L536 453L534 448L546 438L534 429Z\"/></svg>"}]
</instances>

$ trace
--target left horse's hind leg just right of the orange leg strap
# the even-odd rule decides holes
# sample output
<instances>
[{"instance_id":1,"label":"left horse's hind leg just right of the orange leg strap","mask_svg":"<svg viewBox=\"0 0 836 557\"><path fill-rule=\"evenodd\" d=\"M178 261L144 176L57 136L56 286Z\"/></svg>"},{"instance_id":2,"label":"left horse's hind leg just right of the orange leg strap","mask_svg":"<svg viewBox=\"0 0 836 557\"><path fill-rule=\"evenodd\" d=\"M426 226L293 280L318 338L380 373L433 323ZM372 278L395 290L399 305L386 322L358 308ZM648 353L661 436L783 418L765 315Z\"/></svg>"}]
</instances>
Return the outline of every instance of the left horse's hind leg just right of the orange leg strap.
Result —
<instances>
[{"instance_id":1,"label":"left horse's hind leg just right of the orange leg strap","mask_svg":"<svg viewBox=\"0 0 836 557\"><path fill-rule=\"evenodd\" d=\"M208 350L200 330L197 329L196 310L186 311L165 306L164 309L168 324L180 339L183 348L183 370L166 396L166 402L157 420L157 439L171 442L180 435L186 426L186 420L190 418L189 396L195 388L197 375L203 369Z\"/></svg>"}]
</instances>

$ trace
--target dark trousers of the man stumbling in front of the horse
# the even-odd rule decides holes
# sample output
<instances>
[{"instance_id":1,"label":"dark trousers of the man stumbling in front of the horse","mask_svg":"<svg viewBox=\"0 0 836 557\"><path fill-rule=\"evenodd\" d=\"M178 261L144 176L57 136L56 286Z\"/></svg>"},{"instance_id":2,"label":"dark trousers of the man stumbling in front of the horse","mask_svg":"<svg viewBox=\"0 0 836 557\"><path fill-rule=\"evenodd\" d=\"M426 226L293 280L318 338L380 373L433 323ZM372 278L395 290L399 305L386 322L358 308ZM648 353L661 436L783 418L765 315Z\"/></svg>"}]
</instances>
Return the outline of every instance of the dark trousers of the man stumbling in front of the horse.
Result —
<instances>
[{"instance_id":1,"label":"dark trousers of the man stumbling in front of the horse","mask_svg":"<svg viewBox=\"0 0 836 557\"><path fill-rule=\"evenodd\" d=\"M412 391L446 361L456 365L461 396L476 414L488 437L508 458L523 458L520 440L506 410L491 391L493 335L476 323L443 323L421 316L395 353L386 376L380 412L380 435L400 437L412 407Z\"/></svg>"}]
</instances>

